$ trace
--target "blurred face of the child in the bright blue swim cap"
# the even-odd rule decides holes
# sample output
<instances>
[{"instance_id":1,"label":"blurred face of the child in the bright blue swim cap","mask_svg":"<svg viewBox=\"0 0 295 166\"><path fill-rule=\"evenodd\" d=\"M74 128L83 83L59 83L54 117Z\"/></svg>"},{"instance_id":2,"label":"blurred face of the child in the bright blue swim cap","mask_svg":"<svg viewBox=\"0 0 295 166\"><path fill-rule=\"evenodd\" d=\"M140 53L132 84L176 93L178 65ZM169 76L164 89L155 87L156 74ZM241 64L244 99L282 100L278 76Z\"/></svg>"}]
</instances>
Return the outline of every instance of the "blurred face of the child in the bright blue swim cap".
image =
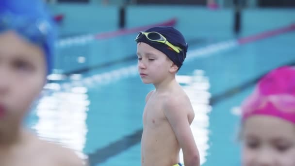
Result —
<instances>
[{"instance_id":1,"label":"blurred face of the child in the bright blue swim cap","mask_svg":"<svg viewBox=\"0 0 295 166\"><path fill-rule=\"evenodd\" d=\"M41 48L12 31L0 33L0 129L22 120L45 81Z\"/></svg>"}]
</instances>

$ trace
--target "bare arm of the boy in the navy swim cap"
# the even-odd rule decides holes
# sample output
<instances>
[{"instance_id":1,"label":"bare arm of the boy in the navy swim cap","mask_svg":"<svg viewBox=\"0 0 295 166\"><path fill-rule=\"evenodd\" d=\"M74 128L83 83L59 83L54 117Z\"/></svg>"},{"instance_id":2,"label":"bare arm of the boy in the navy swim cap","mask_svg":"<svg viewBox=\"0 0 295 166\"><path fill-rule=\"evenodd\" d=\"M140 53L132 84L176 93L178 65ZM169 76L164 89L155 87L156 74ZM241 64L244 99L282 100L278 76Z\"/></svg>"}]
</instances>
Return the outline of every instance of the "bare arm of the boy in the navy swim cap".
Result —
<instances>
[{"instance_id":1,"label":"bare arm of the boy in the navy swim cap","mask_svg":"<svg viewBox=\"0 0 295 166\"><path fill-rule=\"evenodd\" d=\"M188 98L175 99L170 97L164 103L164 114L182 149L184 165L200 166L199 152L188 121L188 113L192 109Z\"/></svg>"}]
</instances>

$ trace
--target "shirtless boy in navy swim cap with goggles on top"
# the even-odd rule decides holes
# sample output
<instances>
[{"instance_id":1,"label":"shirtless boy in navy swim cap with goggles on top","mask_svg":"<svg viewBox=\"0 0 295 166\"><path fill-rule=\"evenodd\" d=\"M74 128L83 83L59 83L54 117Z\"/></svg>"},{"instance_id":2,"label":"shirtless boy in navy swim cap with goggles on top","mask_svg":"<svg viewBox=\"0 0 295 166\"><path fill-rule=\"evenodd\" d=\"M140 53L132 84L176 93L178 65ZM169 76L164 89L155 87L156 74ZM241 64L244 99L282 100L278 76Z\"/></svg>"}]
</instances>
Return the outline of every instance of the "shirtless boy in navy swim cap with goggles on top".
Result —
<instances>
[{"instance_id":1,"label":"shirtless boy in navy swim cap with goggles on top","mask_svg":"<svg viewBox=\"0 0 295 166\"><path fill-rule=\"evenodd\" d=\"M138 70L143 83L153 83L143 113L142 166L199 166L199 153L190 124L194 110L175 80L188 45L173 27L153 27L138 33ZM177 164L178 163L178 164Z\"/></svg>"}]
</instances>

